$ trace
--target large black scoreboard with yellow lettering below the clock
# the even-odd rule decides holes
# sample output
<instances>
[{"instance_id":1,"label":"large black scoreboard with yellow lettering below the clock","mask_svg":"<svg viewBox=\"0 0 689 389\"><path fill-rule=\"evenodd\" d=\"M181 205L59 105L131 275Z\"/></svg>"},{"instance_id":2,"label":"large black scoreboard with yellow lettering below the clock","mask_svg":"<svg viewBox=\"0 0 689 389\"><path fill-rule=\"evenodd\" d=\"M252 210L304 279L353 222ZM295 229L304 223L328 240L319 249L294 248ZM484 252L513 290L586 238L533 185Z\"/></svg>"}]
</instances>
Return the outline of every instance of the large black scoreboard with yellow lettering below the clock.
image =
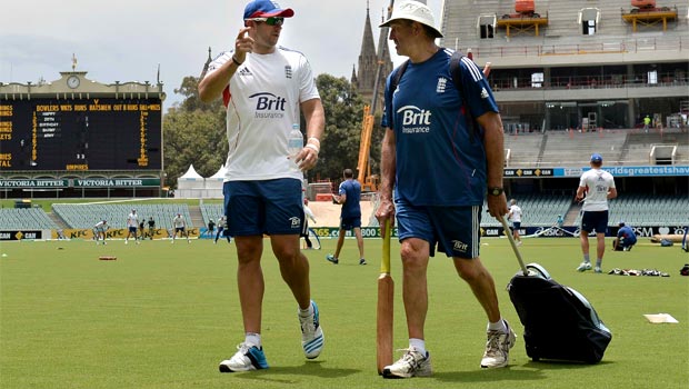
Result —
<instances>
[{"instance_id":1,"label":"large black scoreboard with yellow lettering below the clock","mask_svg":"<svg viewBox=\"0 0 689 389\"><path fill-rule=\"evenodd\" d=\"M0 98L0 172L160 170L161 106L160 98Z\"/></svg>"}]
</instances>

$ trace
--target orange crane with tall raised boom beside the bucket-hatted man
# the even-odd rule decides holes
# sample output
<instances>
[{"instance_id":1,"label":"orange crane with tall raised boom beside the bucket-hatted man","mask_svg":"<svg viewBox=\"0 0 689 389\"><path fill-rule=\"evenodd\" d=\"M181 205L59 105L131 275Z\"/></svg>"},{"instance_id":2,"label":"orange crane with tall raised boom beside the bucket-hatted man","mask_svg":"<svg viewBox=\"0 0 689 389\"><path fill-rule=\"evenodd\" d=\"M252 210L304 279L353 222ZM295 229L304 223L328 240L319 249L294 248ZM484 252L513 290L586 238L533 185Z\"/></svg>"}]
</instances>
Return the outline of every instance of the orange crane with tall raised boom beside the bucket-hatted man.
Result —
<instances>
[{"instance_id":1,"label":"orange crane with tall raised boom beside the bucket-hatted man","mask_svg":"<svg viewBox=\"0 0 689 389\"><path fill-rule=\"evenodd\" d=\"M387 19L390 19L393 6L395 0L390 0ZM388 36L388 27L382 27L380 29L380 36L383 38ZM381 39L381 41L386 42L385 39ZM357 180L361 183L362 191L377 191L379 183L378 174L371 174L371 162L369 154L371 152L371 137L373 134L373 121L376 108L378 104L378 86L380 84L380 77L382 76L383 44L378 46L378 53L376 54L376 57L378 58L378 69L376 70L376 80L373 82L373 97L371 99L371 104L363 107L363 120L361 122L361 141L359 142L359 162L357 163Z\"/></svg>"}]
</instances>

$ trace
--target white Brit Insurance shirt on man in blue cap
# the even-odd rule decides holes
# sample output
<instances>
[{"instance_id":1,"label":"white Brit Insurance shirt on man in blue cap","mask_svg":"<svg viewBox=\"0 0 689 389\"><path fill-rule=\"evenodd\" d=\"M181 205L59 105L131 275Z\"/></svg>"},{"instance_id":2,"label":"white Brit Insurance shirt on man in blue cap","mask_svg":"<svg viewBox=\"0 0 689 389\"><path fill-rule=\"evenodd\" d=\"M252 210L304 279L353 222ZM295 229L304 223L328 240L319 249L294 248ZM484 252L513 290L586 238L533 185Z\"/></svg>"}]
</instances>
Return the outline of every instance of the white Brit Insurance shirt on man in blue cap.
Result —
<instances>
[{"instance_id":1,"label":"white Brit Insurance shirt on man in blue cap","mask_svg":"<svg viewBox=\"0 0 689 389\"><path fill-rule=\"evenodd\" d=\"M208 73L231 60L232 52L221 53ZM269 54L248 53L230 79L229 91L224 181L301 180L300 171L290 170L288 136L299 123L300 103L320 99L306 57L282 47Z\"/></svg>"}]
</instances>

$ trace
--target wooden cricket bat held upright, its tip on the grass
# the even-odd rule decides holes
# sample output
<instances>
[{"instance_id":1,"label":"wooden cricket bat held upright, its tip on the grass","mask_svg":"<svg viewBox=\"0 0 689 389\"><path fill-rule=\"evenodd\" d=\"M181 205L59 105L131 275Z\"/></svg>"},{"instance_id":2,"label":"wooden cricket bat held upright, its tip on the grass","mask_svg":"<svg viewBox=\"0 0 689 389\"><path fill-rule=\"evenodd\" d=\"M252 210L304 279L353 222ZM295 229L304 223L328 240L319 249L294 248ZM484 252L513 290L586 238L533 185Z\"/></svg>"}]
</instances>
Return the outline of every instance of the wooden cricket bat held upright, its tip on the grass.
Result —
<instances>
[{"instance_id":1,"label":"wooden cricket bat held upright, its tip on the grass","mask_svg":"<svg viewBox=\"0 0 689 389\"><path fill-rule=\"evenodd\" d=\"M382 259L378 277L378 315L376 326L376 351L378 375L386 366L392 365L392 323L395 281L390 276L390 221L386 220L382 239Z\"/></svg>"}]
</instances>

